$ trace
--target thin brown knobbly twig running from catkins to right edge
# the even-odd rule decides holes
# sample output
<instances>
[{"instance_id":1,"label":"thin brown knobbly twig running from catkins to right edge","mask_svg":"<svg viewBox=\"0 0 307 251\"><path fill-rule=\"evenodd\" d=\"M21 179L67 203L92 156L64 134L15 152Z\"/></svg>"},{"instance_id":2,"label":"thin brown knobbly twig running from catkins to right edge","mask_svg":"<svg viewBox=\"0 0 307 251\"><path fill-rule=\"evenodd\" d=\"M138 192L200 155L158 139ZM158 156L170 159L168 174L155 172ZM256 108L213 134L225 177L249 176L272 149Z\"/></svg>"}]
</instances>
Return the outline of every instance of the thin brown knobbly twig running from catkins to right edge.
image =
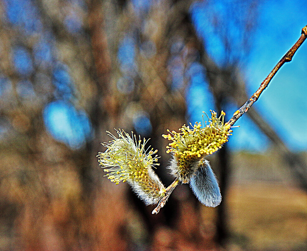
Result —
<instances>
[{"instance_id":1,"label":"thin brown knobbly twig running from catkins to right edge","mask_svg":"<svg viewBox=\"0 0 307 251\"><path fill-rule=\"evenodd\" d=\"M292 46L290 50L283 56L281 60L277 63L277 65L274 67L274 69L270 72L270 74L266 77L265 80L262 81L260 87L258 90L250 97L249 100L245 102L243 106L240 107L239 110L237 110L233 117L228 121L228 123L232 126L245 112L248 111L248 109L252 106L253 103L255 103L258 98L260 97L260 94L263 92L265 88L267 88L268 84L272 80L272 78L275 76L276 72L282 67L282 65L286 62L290 62L292 60L292 57L294 53L299 49L299 46L303 44L307 37L307 25L302 29L302 34L299 37L299 40Z\"/></svg>"}]
</instances>

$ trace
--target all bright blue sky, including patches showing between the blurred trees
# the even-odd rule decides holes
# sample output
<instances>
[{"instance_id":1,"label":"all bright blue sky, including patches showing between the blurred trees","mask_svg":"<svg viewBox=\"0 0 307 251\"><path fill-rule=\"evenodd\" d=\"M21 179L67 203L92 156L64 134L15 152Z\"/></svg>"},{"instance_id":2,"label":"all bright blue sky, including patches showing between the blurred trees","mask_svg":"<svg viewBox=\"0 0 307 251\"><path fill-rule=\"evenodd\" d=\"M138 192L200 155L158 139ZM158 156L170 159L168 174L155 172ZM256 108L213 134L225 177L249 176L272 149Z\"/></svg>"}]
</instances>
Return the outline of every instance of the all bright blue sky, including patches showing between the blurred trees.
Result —
<instances>
[{"instance_id":1,"label":"all bright blue sky, including patches showing between the blurred trees","mask_svg":"<svg viewBox=\"0 0 307 251\"><path fill-rule=\"evenodd\" d=\"M135 12L141 17L144 13L148 13L153 2L155 1L133 0L132 4ZM22 46L13 48L12 55L16 70L22 78L19 89L22 93L33 95L33 85L27 80L34 70L33 66L36 64L41 67L49 67L53 73L55 100L47 104L44 109L46 128L57 140L63 141L72 148L81 147L87 139L91 138L89 118L83 110L77 110L73 105L76 101L75 83L73 83L67 65L57 61L55 40L52 34L41 29L39 13L31 0L4 0L4 3L8 22L21 27L26 34L41 34L41 39L34 48L33 60L26 48ZM78 3L83 3L83 1L80 0ZM246 3L246 1L236 2L243 6ZM299 38L300 30L307 24L307 5L299 0L259 3L258 15L255 19L256 29L250 34L253 39L251 50L247 54L248 50L240 42L241 34L233 18L240 17L241 13L236 13L233 4L234 1L208 0L206 4L198 1L191 8L191 14L197 33L206 40L209 55L220 66L227 65L227 60L225 60L227 54L223 40L217 33L216 27L211 25L210 20L218 17L221 22L225 23L224 33L229 38L234 55L243 59L240 67L248 94L251 95L278 60ZM81 20L78 20L78 16L73 13L66 17L65 24L68 31L72 33L78 33L82 29ZM137 46L140 46L144 52L147 50L144 55L148 59L156 53L152 41L148 40L143 45L139 45L134 35L127 34L120 42L118 50L123 76L117 86L120 92L128 95L134 89L134 78L138 71L135 62ZM181 88L184 76L180 74L180 60L176 59L176 52L171 51L171 53L174 55L170 58L168 68L172 77L171 88L176 90ZM255 103L256 109L292 150L307 150L307 133L305 132L307 123L305 116L307 108L305 99L307 95L306 54L307 43L305 42L294 55L293 61L286 63L280 69ZM230 62L231 60L233 59L230 59ZM190 85L185 92L187 122L202 121L202 111L209 113L209 109L214 109L213 97L206 80L206 71L199 62L194 62L185 74L191 77ZM5 79L7 77L2 76L0 72L3 86L9 83L4 81ZM5 88L0 88L0 96L5 92ZM26 88L30 88L30 92L27 92ZM237 108L234 104L229 103L226 112L231 115ZM133 117L133 124L137 133L145 136L151 132L150 118L145 112L136 113ZM248 116L244 115L236 124L241 127L234 128L234 135L229 142L232 149L251 151L267 149L268 139L250 122Z\"/></svg>"}]
</instances>

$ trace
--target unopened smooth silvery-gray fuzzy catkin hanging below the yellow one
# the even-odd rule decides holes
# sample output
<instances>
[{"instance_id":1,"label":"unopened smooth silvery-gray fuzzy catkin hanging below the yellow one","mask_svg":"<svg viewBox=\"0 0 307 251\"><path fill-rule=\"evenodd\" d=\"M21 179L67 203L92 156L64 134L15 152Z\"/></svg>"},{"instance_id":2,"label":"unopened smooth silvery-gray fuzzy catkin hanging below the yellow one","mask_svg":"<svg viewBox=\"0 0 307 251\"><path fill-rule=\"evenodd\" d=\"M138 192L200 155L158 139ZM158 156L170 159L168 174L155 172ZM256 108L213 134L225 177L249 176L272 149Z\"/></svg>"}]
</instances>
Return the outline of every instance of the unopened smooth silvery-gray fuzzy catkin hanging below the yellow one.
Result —
<instances>
[{"instance_id":1,"label":"unopened smooth silvery-gray fuzzy catkin hanging below the yellow one","mask_svg":"<svg viewBox=\"0 0 307 251\"><path fill-rule=\"evenodd\" d=\"M218 181L205 159L199 162L199 167L190 180L190 187L198 200L207 207L216 207L222 201Z\"/></svg>"}]
</instances>

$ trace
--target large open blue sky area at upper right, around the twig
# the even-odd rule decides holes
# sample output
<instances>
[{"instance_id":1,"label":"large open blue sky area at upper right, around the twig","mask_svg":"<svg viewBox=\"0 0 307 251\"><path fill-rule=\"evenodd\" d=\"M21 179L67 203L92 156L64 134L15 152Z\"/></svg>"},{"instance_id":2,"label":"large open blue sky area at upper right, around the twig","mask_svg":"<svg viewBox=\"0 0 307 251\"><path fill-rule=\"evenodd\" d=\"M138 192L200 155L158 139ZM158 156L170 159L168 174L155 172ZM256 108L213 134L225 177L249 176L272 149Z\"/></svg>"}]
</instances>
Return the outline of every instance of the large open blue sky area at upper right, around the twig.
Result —
<instances>
[{"instance_id":1,"label":"large open blue sky area at upper right, around the twig","mask_svg":"<svg viewBox=\"0 0 307 251\"><path fill-rule=\"evenodd\" d=\"M246 65L251 95L281 57L291 48L307 24L303 1L268 1L261 8L255 45ZM255 106L293 150L307 149L307 44L283 65ZM238 121L239 122L239 121Z\"/></svg>"}]
</instances>

